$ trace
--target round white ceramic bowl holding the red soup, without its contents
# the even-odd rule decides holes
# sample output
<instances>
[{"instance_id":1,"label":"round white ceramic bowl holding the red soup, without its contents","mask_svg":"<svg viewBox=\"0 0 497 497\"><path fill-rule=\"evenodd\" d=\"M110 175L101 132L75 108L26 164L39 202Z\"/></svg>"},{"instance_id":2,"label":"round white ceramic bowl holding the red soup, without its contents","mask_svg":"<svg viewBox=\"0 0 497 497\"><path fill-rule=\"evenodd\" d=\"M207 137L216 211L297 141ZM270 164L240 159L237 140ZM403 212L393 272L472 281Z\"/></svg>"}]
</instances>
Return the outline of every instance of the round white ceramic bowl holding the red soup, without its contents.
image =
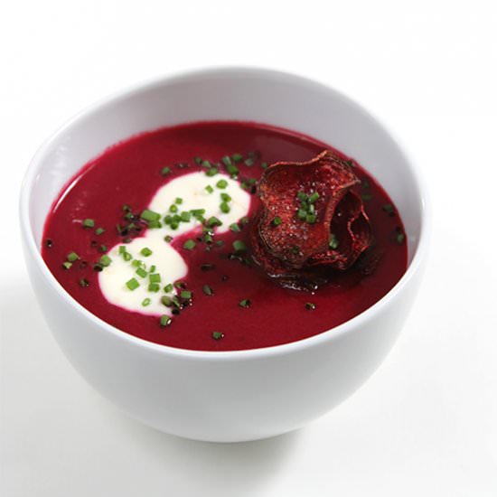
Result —
<instances>
[{"instance_id":1,"label":"round white ceramic bowl holding the red soup, without its contents","mask_svg":"<svg viewBox=\"0 0 497 497\"><path fill-rule=\"evenodd\" d=\"M299 342L195 352L123 333L66 293L40 255L43 222L62 186L119 140L211 119L286 127L363 164L398 206L408 235L408 270L388 295L347 323ZM254 440L302 427L370 377L395 342L417 292L428 221L416 167L374 117L322 84L258 69L198 70L98 103L42 145L21 195L23 247L33 287L52 333L76 370L145 424L217 442Z\"/></svg>"}]
</instances>

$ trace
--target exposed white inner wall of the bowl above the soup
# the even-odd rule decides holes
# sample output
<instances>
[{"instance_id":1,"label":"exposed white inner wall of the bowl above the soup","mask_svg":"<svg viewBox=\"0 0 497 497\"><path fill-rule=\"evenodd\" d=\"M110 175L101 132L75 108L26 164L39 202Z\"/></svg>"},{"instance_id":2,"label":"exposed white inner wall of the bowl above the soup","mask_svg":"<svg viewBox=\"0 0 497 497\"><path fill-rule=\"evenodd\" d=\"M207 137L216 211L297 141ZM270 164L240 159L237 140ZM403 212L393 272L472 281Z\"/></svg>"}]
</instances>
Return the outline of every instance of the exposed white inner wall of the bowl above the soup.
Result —
<instances>
[{"instance_id":1,"label":"exposed white inner wall of the bowl above the soup","mask_svg":"<svg viewBox=\"0 0 497 497\"><path fill-rule=\"evenodd\" d=\"M158 127L220 119L286 127L352 155L398 206L410 263L420 237L423 201L417 177L399 145L349 98L313 81L269 70L207 70L174 77L74 117L43 145L24 183L37 247L61 188L106 147Z\"/></svg>"}]
</instances>

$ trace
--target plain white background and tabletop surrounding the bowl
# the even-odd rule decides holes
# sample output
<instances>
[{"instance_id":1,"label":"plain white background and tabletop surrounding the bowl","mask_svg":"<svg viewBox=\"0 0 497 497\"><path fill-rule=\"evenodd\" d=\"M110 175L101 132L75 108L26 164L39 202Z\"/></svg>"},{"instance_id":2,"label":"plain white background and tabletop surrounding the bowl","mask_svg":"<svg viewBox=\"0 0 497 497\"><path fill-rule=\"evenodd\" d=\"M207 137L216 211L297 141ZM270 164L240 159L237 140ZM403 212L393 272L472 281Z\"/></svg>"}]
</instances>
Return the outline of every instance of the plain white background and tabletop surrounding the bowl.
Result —
<instances>
[{"instance_id":1,"label":"plain white background and tabletop surrounding the bowl","mask_svg":"<svg viewBox=\"0 0 497 497\"><path fill-rule=\"evenodd\" d=\"M0 5L3 497L497 495L494 1ZM17 227L23 171L55 127L117 89L220 64L357 99L415 155L435 216L424 286L380 370L309 427L240 445L155 432L89 389L42 321Z\"/></svg>"}]
</instances>

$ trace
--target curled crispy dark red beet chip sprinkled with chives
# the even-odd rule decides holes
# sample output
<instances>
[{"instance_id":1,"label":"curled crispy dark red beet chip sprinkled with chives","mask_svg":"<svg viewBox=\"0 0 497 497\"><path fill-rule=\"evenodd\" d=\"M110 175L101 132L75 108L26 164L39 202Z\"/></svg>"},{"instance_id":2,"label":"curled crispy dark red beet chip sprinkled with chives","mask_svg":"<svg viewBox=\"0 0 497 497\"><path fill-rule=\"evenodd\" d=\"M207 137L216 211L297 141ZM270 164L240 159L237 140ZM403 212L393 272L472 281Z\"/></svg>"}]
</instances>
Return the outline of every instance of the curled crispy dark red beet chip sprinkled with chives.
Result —
<instances>
[{"instance_id":1,"label":"curled crispy dark red beet chip sprinkled with chives","mask_svg":"<svg viewBox=\"0 0 497 497\"><path fill-rule=\"evenodd\" d=\"M325 150L306 163L272 164L262 175L262 203L252 230L254 258L273 277L325 265L344 270L370 247L360 180Z\"/></svg>"}]
</instances>

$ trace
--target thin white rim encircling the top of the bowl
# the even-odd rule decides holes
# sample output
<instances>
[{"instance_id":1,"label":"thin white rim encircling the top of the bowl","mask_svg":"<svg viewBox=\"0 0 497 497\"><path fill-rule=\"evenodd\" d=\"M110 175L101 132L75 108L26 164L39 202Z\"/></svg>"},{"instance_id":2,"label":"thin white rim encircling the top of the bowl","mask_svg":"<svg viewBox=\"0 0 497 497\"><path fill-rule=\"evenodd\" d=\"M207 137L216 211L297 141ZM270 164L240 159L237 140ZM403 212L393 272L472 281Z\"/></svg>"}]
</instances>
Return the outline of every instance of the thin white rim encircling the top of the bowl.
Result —
<instances>
[{"instance_id":1,"label":"thin white rim encircling the top of the bowl","mask_svg":"<svg viewBox=\"0 0 497 497\"><path fill-rule=\"evenodd\" d=\"M269 347L262 347L258 349L245 349L236 351L197 351L190 349L180 349L176 347L171 347L169 345L163 345L155 342L148 342L142 338L138 338L135 335L126 333L112 324L100 319L97 315L92 314L86 307L80 305L57 281L57 279L52 275L52 272L45 264L42 259L42 254L37 244L35 243L33 230L31 230L30 220L29 220L29 202L31 198L31 193L33 191L33 183L37 176L39 167L42 164L42 159L46 155L48 149L54 141L56 141L59 136L61 136L66 129L72 127L81 119L88 117L92 113L98 111L100 108L116 104L121 100L130 98L138 93L144 91L150 91L153 89L158 89L164 84L171 83L181 83L189 80L197 80L206 76L216 76L216 77L232 77L232 78L243 78L243 77L263 77L270 80L280 80L283 82L295 82L305 85L307 88L314 87L315 89L326 90L332 93L334 98L342 99L345 103L352 108L355 108L359 113L369 117L380 129L391 138L391 140L398 145L399 152L404 156L406 164L410 169L413 177L416 181L419 204L420 204L420 230L419 239L417 243L417 248L414 256L406 272L400 277L399 281L390 288L389 292L383 295L380 300L375 302L373 305L368 307L366 310L357 314L352 319L346 321L345 323L339 324L325 332L315 334L313 336L297 340L295 342L282 343L279 345L273 345ZM239 360L252 360L261 359L271 356L278 356L286 353L292 353L297 351L302 351L311 347L319 346L320 344L332 340L339 340L343 335L352 333L361 327L362 324L367 323L370 318L375 314L379 314L387 305L401 294L409 282L415 277L417 272L420 270L423 260L426 258L429 234L431 232L431 212L430 212L430 202L427 193L427 183L423 177L423 174L419 170L417 164L413 160L413 155L408 151L408 148L404 143L399 140L399 137L393 134L388 127L384 126L383 123L370 112L367 108L364 108L360 103L356 102L352 98L343 94L342 91L333 89L327 83L321 82L319 80L310 79L298 74L282 71L273 70L257 66L217 66L217 67L207 67L192 70L183 70L173 72L171 74L165 74L161 77L156 77L152 80L146 80L145 82L138 82L135 85L127 88L121 89L114 93L111 93L107 97L98 99L92 105L87 108L83 108L73 117L70 117L65 123L60 127L55 129L50 136L48 136L42 145L38 148L36 153L33 155L30 164L26 170L23 177L23 183L21 185L21 194L19 202L20 211L20 221L21 221L21 233L27 250L25 251L25 257L33 258L36 266L40 269L42 277L46 280L47 284L52 286L56 294L65 301L67 305L70 305L79 312L86 319L93 322L93 324L103 328L106 332L111 333L118 340L123 340L128 342L130 345L137 346L146 349L148 352L156 352L161 354L171 354L176 357L183 357L188 359L199 359L203 361L239 361Z\"/></svg>"}]
</instances>

